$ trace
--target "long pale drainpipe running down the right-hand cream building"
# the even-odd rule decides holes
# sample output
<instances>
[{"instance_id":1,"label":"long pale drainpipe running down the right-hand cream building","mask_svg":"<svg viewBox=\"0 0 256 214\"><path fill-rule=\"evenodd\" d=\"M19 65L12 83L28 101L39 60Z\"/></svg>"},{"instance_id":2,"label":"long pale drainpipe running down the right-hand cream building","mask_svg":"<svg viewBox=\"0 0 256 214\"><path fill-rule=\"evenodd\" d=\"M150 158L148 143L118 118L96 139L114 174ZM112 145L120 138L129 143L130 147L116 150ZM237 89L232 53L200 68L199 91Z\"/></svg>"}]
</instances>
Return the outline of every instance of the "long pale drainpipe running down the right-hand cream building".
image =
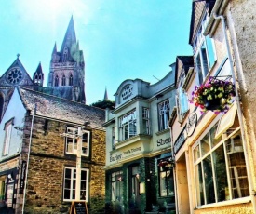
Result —
<instances>
[{"instance_id":1,"label":"long pale drainpipe running down the right-hand cream building","mask_svg":"<svg viewBox=\"0 0 256 214\"><path fill-rule=\"evenodd\" d=\"M248 176L249 193L250 193L250 196L251 196L251 202L252 202L254 213L256 213L255 190L253 190L253 182L252 182L252 178L251 178L248 148L247 148L247 145L246 145L245 129L244 129L244 123L243 123L243 114L242 114L242 110L241 110L241 104L240 104L240 99L239 99L238 89L237 89L237 84L236 84L236 76L235 76L235 71L234 71L234 67L233 67L233 60L232 60L232 56L231 56L231 51L230 51L231 48L229 46L228 37L227 37L227 33L226 33L225 17L222 16L222 15L217 16L216 13L213 13L213 17L214 17L215 20L222 20L222 30L223 30L223 34L224 34L228 60L229 60L230 68L231 68L232 78L235 81L234 85L235 85L235 93L236 93L237 115L238 115L238 120L239 120L239 123L240 123L241 137L242 137L242 141L243 141L243 147L244 147L245 159L246 159L246 166L247 166L248 174L249 174L249 176Z\"/></svg>"}]
</instances>

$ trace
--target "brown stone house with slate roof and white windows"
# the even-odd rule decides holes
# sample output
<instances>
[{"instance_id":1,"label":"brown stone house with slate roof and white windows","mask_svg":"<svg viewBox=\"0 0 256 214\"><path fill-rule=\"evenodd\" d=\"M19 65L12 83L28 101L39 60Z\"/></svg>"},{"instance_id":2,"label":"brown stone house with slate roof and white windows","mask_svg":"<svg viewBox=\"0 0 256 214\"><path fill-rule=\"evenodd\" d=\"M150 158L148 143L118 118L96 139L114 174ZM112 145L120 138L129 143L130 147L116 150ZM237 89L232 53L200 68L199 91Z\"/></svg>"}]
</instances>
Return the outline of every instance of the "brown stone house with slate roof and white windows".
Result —
<instances>
[{"instance_id":1,"label":"brown stone house with slate roof and white windows","mask_svg":"<svg viewBox=\"0 0 256 214\"><path fill-rule=\"evenodd\" d=\"M68 213L74 200L101 213L104 118L104 110L16 87L0 124L0 195L9 213Z\"/></svg>"}]
</instances>

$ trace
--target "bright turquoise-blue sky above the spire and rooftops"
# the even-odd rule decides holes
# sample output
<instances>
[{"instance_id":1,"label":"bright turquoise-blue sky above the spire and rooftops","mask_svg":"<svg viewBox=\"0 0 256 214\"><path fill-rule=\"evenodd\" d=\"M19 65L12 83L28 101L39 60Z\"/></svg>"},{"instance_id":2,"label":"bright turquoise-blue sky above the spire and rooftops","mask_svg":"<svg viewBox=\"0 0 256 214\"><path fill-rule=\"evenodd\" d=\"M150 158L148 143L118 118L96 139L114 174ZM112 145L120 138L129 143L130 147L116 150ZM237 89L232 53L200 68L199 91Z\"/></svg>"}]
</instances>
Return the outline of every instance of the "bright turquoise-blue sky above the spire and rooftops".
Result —
<instances>
[{"instance_id":1,"label":"bright turquoise-blue sky above the spire and rooftops","mask_svg":"<svg viewBox=\"0 0 256 214\"><path fill-rule=\"evenodd\" d=\"M110 100L126 79L155 84L188 45L191 0L6 0L0 6L0 75L20 54L33 76L41 61L47 86L54 43L60 50L71 16L84 51L87 104Z\"/></svg>"}]
</instances>

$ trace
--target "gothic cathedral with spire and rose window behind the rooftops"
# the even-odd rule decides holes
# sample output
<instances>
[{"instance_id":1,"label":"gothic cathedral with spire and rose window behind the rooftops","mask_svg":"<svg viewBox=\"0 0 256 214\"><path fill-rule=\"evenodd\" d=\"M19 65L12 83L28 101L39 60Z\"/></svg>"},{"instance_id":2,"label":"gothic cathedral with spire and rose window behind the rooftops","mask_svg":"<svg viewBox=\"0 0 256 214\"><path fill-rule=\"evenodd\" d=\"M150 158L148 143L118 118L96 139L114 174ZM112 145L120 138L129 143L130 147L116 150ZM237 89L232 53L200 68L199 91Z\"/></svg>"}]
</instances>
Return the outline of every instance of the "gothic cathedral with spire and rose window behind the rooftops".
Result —
<instances>
[{"instance_id":1,"label":"gothic cathedral with spire and rose window behind the rooftops","mask_svg":"<svg viewBox=\"0 0 256 214\"><path fill-rule=\"evenodd\" d=\"M67 100L86 103L85 62L83 51L79 49L71 18L64 36L61 50L56 44L51 54L47 87L44 87L45 74L41 63L33 77L22 65L19 54L7 71L0 77L0 120L7 108L8 101L15 87L27 87Z\"/></svg>"}]
</instances>

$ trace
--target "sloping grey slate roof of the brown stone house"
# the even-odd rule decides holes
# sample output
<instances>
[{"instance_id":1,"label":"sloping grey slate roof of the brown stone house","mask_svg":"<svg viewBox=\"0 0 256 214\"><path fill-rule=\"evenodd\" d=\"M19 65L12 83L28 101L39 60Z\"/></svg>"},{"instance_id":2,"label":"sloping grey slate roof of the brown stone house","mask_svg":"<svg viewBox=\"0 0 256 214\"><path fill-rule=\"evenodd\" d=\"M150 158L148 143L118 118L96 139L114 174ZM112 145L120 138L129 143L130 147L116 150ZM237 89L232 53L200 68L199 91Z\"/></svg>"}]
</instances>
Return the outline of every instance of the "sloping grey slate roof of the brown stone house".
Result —
<instances>
[{"instance_id":1,"label":"sloping grey slate roof of the brown stone house","mask_svg":"<svg viewBox=\"0 0 256 214\"><path fill-rule=\"evenodd\" d=\"M105 120L105 110L88 106L79 102L61 99L24 87L18 87L20 99L27 110L36 115L52 119L83 125L89 122L88 127L100 128Z\"/></svg>"}]
</instances>

